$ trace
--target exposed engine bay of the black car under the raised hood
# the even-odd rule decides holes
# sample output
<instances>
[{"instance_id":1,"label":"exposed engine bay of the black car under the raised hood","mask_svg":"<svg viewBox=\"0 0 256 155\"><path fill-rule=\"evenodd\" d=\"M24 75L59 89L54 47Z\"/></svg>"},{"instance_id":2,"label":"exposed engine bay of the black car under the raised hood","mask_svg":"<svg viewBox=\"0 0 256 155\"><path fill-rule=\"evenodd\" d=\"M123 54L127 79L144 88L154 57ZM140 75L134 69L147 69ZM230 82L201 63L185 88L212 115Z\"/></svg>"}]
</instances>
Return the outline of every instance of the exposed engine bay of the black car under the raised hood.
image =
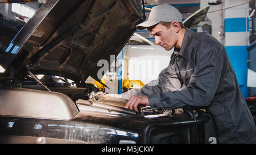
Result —
<instances>
[{"instance_id":1,"label":"exposed engine bay of the black car under the raised hood","mask_svg":"<svg viewBox=\"0 0 256 155\"><path fill-rule=\"evenodd\" d=\"M81 87L70 79L59 76L37 75L40 81L48 90L67 95L79 110L104 112L106 114L128 114L137 115L144 118L170 117L180 114L182 109L177 110L153 110L150 106L139 107L140 112L125 108L128 100L123 98L105 97L106 93L98 91L97 87L91 83L86 83L86 87ZM1 87L19 88L26 90L48 91L46 87L40 85L31 76L20 78L1 78Z\"/></svg>"}]
</instances>

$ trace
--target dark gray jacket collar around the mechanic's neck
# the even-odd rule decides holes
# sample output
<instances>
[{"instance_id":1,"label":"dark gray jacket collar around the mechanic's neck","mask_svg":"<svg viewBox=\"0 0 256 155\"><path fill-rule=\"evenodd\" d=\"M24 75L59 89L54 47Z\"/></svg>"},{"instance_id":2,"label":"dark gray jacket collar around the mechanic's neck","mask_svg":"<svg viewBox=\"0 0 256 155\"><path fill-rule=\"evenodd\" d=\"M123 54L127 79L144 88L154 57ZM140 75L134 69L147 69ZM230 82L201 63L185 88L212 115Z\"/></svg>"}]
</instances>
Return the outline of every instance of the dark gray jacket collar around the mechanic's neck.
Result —
<instances>
[{"instance_id":1,"label":"dark gray jacket collar around the mechanic's neck","mask_svg":"<svg viewBox=\"0 0 256 155\"><path fill-rule=\"evenodd\" d=\"M185 50L188 45L190 44L191 42L191 39L192 39L192 33L193 31L191 31L189 28L186 27L186 31L185 31L185 34L184 34L184 37L183 37L183 41L182 41L182 44L181 44L181 48L174 48L174 51L177 51L179 52L178 55L186 58L186 55L187 55L187 51Z\"/></svg>"}]
</instances>

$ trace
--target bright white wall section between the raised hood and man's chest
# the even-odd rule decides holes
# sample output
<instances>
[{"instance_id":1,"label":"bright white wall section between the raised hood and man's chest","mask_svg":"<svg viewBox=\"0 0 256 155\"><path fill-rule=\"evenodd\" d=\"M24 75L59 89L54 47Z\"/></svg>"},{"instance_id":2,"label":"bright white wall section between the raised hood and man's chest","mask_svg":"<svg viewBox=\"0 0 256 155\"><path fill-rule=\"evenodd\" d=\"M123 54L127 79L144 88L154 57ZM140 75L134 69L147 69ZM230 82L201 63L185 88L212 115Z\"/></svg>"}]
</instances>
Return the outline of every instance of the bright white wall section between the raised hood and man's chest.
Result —
<instances>
[{"instance_id":1,"label":"bright white wall section between the raised hood and man's chest","mask_svg":"<svg viewBox=\"0 0 256 155\"><path fill-rule=\"evenodd\" d=\"M158 78L168 66L174 49L158 45L126 45L123 48L123 79L141 80L144 84Z\"/></svg>"}]
</instances>

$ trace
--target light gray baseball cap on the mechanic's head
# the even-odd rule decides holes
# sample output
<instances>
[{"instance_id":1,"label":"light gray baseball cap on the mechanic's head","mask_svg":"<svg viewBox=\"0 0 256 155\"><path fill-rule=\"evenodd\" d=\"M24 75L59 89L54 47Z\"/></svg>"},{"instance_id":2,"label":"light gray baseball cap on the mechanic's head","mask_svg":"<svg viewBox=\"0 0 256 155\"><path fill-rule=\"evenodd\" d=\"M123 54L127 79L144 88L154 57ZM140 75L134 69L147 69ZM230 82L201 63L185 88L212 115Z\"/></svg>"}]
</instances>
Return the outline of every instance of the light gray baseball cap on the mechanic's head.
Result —
<instances>
[{"instance_id":1,"label":"light gray baseball cap on the mechanic's head","mask_svg":"<svg viewBox=\"0 0 256 155\"><path fill-rule=\"evenodd\" d=\"M144 28L154 26L160 22L182 22L182 15L179 10L175 7L164 4L158 5L152 8L148 20L138 24L136 28L138 30L143 30Z\"/></svg>"}]
</instances>

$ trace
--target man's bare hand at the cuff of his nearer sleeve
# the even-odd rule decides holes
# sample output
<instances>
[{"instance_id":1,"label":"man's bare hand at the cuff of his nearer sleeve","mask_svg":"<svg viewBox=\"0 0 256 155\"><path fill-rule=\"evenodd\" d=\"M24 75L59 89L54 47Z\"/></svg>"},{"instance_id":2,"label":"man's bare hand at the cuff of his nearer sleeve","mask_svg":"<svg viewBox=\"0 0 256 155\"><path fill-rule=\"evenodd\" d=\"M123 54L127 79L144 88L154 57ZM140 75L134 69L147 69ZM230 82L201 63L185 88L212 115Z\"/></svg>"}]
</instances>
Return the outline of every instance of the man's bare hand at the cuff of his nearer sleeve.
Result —
<instances>
[{"instance_id":1,"label":"man's bare hand at the cuff of his nearer sleeve","mask_svg":"<svg viewBox=\"0 0 256 155\"><path fill-rule=\"evenodd\" d=\"M126 103L125 108L129 108L130 110L138 111L139 104L143 104L145 106L149 106L149 101L146 96L132 96L129 101Z\"/></svg>"}]
</instances>

